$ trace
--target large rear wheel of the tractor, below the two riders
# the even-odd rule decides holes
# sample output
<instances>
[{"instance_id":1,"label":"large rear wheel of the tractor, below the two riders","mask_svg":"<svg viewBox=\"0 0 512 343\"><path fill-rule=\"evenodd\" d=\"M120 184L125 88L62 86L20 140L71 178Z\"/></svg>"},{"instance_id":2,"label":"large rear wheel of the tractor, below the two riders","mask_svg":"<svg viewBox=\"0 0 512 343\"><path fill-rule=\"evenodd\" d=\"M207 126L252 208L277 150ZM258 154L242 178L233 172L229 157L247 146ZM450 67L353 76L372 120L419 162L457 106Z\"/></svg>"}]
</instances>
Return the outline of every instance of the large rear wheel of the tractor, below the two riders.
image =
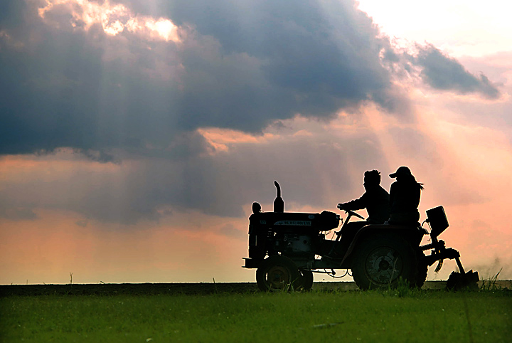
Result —
<instances>
[{"instance_id":1,"label":"large rear wheel of the tractor, below the two riders","mask_svg":"<svg viewBox=\"0 0 512 343\"><path fill-rule=\"evenodd\" d=\"M358 246L352 275L361 290L394 288L400 282L415 285L418 274L416 258L404 238L374 236Z\"/></svg>"}]
</instances>

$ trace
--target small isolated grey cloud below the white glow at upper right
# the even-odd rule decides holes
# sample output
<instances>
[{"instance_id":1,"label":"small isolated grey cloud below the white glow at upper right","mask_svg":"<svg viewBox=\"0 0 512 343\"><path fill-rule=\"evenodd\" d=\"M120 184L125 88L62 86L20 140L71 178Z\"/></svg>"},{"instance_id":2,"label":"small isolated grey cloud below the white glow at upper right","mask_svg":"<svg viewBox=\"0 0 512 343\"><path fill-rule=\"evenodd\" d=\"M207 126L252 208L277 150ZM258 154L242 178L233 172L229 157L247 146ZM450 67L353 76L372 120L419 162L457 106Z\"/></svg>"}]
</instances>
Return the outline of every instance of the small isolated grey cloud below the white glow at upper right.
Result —
<instances>
[{"instance_id":1,"label":"small isolated grey cloud below the white glow at upper right","mask_svg":"<svg viewBox=\"0 0 512 343\"><path fill-rule=\"evenodd\" d=\"M432 45L421 47L414 63L422 67L420 76L432 88L462 94L479 93L489 99L500 96L498 88L486 75L469 73L458 60L444 55Z\"/></svg>"}]
</instances>

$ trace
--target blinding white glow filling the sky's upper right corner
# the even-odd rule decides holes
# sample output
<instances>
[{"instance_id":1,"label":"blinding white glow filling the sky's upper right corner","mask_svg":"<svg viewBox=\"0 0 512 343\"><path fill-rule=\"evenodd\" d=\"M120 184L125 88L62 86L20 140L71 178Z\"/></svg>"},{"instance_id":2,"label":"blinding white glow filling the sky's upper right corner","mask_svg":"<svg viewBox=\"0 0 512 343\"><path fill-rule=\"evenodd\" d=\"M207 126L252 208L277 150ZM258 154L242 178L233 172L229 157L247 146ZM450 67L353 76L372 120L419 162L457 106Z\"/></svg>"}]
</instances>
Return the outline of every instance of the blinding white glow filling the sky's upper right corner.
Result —
<instances>
[{"instance_id":1,"label":"blinding white glow filling the sky's upper right corner","mask_svg":"<svg viewBox=\"0 0 512 343\"><path fill-rule=\"evenodd\" d=\"M359 0L364 11L391 38L433 43L451 56L483 56L512 44L512 4L488 0Z\"/></svg>"}]
</instances>

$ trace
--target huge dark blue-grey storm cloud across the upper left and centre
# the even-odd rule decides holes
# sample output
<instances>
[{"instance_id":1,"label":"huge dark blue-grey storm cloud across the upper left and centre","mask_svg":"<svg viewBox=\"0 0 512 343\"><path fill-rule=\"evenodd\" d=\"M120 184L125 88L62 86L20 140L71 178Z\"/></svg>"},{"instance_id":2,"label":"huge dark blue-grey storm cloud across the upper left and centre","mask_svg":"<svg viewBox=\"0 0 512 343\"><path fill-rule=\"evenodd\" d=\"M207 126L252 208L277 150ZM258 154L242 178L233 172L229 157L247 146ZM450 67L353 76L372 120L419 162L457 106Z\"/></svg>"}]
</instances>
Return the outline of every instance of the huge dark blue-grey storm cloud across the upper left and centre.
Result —
<instances>
[{"instance_id":1,"label":"huge dark blue-grey storm cloud across the upper left and centre","mask_svg":"<svg viewBox=\"0 0 512 343\"><path fill-rule=\"evenodd\" d=\"M43 20L4 4L20 21L1 23L0 154L166 149L197 127L258 132L365 100L393 110L379 58L389 43L351 1L161 5L159 16L186 31L180 46L73 28L63 6Z\"/></svg>"}]
</instances>

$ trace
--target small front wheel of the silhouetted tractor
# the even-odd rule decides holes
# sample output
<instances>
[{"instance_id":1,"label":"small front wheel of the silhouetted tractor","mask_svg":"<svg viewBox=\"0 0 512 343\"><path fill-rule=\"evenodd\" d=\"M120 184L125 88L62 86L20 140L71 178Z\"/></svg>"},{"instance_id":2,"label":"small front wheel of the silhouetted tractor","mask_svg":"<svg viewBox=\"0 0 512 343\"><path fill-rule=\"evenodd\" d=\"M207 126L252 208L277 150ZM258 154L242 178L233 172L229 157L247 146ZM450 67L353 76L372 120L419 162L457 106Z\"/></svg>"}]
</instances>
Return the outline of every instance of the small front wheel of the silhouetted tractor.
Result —
<instances>
[{"instance_id":1,"label":"small front wheel of the silhouetted tractor","mask_svg":"<svg viewBox=\"0 0 512 343\"><path fill-rule=\"evenodd\" d=\"M256 270L256 283L262 291L294 290L301 283L297 265L283 255L266 258Z\"/></svg>"}]
</instances>

